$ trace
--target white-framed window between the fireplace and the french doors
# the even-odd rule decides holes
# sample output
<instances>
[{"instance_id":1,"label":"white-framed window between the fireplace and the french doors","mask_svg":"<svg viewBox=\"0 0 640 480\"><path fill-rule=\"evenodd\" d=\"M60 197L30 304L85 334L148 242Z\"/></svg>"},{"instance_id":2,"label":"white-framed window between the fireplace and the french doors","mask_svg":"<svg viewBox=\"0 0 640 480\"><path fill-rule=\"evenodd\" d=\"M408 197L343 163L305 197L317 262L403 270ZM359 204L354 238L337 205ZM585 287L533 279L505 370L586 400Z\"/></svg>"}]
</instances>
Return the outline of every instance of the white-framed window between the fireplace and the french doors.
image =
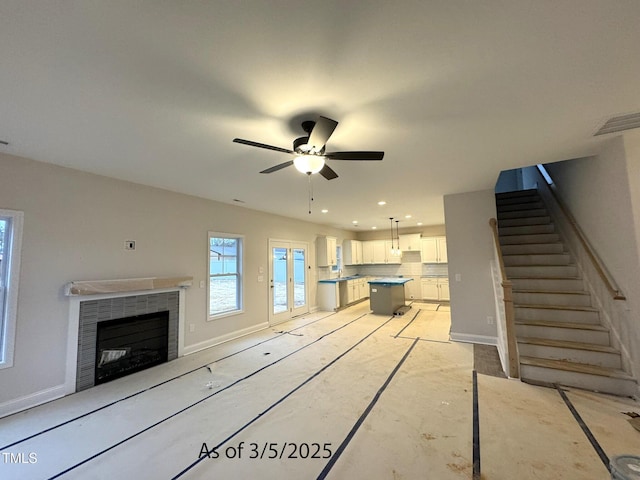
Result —
<instances>
[{"instance_id":1,"label":"white-framed window between the fireplace and the french doors","mask_svg":"<svg viewBox=\"0 0 640 480\"><path fill-rule=\"evenodd\" d=\"M242 240L209 233L209 319L242 311Z\"/></svg>"}]
</instances>

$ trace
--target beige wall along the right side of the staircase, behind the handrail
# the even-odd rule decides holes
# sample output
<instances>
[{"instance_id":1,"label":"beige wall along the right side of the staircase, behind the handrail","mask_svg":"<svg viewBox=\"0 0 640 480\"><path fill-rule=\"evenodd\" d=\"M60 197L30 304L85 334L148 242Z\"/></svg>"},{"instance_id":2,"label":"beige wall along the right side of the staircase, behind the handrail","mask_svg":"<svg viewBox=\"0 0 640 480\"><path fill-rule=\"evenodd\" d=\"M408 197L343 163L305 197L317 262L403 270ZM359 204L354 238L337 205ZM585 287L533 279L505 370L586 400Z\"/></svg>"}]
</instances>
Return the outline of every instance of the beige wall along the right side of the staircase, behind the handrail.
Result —
<instances>
[{"instance_id":1,"label":"beige wall along the right side of the staircase, behind the handrail","mask_svg":"<svg viewBox=\"0 0 640 480\"><path fill-rule=\"evenodd\" d=\"M640 131L612 138L593 157L545 168L627 297L620 304L631 320L617 329L633 364L640 365Z\"/></svg>"}]
</instances>

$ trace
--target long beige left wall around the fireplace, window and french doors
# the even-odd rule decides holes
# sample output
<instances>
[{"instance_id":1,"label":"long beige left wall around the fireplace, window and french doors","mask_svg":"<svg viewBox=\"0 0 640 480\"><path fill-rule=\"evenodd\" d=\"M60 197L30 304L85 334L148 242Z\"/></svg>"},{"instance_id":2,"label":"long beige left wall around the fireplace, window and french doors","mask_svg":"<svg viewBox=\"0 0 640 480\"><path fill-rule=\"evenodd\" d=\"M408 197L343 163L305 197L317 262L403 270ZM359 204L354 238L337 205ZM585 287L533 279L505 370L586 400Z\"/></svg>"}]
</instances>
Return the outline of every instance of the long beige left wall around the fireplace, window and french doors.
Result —
<instances>
[{"instance_id":1,"label":"long beige left wall around the fireplace, window and french doors","mask_svg":"<svg viewBox=\"0 0 640 480\"><path fill-rule=\"evenodd\" d=\"M193 276L186 292L186 323L195 325L185 334L188 348L267 321L268 278L259 283L257 276L260 267L268 271L269 238L309 243L312 306L315 238L353 238L318 224L1 154L0 208L24 212L15 362L0 370L0 415L18 399L46 399L64 383L67 282ZM206 289L199 288L207 278L208 231L245 235L245 311L212 322ZM125 251L125 240L135 240L136 250Z\"/></svg>"}]
</instances>

